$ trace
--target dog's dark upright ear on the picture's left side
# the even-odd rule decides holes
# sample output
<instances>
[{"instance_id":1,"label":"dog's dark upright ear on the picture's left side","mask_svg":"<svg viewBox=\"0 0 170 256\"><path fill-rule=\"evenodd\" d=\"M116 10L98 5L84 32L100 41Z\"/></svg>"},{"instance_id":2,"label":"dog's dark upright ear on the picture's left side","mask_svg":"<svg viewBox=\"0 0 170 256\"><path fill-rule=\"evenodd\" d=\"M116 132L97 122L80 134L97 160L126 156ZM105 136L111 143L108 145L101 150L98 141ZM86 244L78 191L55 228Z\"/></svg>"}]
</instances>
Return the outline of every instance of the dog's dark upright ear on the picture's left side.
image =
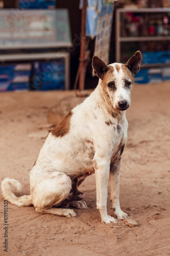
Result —
<instances>
[{"instance_id":1,"label":"dog's dark upright ear on the picture's left side","mask_svg":"<svg viewBox=\"0 0 170 256\"><path fill-rule=\"evenodd\" d=\"M92 58L92 68L94 70L94 74L101 79L103 79L104 74L109 69L109 67L97 56L93 56Z\"/></svg>"}]
</instances>

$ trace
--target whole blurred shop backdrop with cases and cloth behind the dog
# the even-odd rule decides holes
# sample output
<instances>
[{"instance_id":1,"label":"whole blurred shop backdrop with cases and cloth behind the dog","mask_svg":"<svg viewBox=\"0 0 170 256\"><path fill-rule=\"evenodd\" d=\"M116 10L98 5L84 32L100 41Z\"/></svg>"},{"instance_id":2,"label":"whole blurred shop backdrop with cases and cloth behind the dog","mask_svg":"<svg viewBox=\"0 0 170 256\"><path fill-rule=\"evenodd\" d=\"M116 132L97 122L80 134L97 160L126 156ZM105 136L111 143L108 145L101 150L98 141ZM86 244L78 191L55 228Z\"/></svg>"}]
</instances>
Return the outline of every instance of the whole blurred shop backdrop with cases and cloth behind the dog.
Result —
<instances>
[{"instance_id":1,"label":"whole blurred shop backdrop with cases and cloth behind the dog","mask_svg":"<svg viewBox=\"0 0 170 256\"><path fill-rule=\"evenodd\" d=\"M0 0L0 91L94 88L91 59L126 61L135 82L170 79L169 0Z\"/></svg>"}]
</instances>

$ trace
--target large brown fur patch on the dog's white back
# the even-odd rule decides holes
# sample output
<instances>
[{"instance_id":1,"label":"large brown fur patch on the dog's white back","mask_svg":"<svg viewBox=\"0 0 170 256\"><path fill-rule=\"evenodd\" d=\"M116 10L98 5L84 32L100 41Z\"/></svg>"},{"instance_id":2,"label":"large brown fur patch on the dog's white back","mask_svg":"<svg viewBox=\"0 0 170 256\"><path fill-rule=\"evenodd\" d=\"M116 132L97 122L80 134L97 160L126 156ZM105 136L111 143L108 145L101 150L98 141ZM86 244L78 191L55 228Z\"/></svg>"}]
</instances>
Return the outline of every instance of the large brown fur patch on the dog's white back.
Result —
<instances>
[{"instance_id":1,"label":"large brown fur patch on the dog's white back","mask_svg":"<svg viewBox=\"0 0 170 256\"><path fill-rule=\"evenodd\" d=\"M58 124L57 126L54 127L52 130L52 135L55 137L63 137L67 133L69 133L70 129L70 119L72 116L72 111L68 113L68 115L64 118L64 120Z\"/></svg>"}]
</instances>

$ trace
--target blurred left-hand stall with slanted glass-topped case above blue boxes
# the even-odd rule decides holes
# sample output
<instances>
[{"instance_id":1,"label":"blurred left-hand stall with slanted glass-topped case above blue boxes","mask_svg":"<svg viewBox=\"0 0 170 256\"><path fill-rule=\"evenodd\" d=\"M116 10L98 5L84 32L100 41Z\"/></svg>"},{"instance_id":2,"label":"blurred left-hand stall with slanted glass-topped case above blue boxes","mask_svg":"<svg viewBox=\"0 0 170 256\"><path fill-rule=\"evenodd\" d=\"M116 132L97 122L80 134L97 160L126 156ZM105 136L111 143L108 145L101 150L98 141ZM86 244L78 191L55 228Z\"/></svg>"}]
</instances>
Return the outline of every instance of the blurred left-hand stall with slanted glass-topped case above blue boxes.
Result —
<instances>
[{"instance_id":1,"label":"blurred left-hand stall with slanted glass-topped case above blue boxes","mask_svg":"<svg viewBox=\"0 0 170 256\"><path fill-rule=\"evenodd\" d=\"M69 89L67 9L55 9L55 0L0 3L0 91Z\"/></svg>"}]
</instances>

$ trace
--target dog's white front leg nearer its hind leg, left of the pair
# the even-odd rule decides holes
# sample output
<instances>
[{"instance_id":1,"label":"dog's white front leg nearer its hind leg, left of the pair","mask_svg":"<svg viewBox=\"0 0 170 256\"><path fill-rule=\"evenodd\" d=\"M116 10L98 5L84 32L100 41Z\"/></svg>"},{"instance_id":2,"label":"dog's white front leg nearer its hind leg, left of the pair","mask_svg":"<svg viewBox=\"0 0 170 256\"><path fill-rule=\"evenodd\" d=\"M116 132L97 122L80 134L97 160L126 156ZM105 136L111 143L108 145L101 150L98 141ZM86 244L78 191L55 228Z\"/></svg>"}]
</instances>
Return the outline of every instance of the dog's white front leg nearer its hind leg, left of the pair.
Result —
<instances>
[{"instance_id":1,"label":"dog's white front leg nearer its hind leg, left of the pair","mask_svg":"<svg viewBox=\"0 0 170 256\"><path fill-rule=\"evenodd\" d=\"M107 189L109 180L110 161L98 159L94 166L96 180L96 205L99 209L103 223L117 222L113 217L107 215Z\"/></svg>"}]
</instances>

